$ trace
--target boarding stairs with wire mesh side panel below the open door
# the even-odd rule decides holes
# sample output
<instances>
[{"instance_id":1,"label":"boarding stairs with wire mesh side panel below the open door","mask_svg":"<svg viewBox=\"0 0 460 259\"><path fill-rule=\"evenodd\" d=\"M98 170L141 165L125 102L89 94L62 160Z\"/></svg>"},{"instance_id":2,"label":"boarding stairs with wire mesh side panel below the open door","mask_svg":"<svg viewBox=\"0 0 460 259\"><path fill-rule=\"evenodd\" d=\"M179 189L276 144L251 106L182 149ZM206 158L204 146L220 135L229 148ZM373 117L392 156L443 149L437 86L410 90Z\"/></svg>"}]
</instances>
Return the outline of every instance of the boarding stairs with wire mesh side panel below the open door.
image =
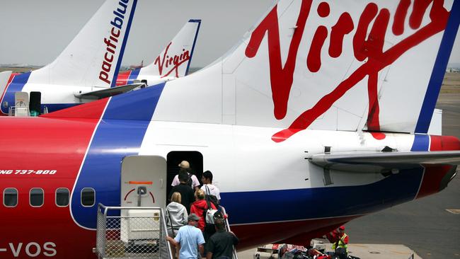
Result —
<instances>
[{"instance_id":1,"label":"boarding stairs with wire mesh side panel below the open door","mask_svg":"<svg viewBox=\"0 0 460 259\"><path fill-rule=\"evenodd\" d=\"M220 206L224 214L225 208ZM107 207L98 205L94 253L100 259L173 259L165 210L161 207ZM147 216L146 216L147 215ZM230 231L228 219L226 230ZM234 249L233 259L238 259Z\"/></svg>"}]
</instances>

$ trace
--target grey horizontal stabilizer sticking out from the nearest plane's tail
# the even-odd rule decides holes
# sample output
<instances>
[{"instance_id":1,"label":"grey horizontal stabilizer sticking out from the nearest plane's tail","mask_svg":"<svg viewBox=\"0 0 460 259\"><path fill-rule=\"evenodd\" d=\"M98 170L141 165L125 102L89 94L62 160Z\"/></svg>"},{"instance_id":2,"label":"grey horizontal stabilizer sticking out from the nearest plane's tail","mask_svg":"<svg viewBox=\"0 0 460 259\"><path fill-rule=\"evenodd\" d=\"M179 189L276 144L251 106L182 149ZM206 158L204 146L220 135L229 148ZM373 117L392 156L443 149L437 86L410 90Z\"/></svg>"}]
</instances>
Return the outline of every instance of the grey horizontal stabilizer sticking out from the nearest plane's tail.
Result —
<instances>
[{"instance_id":1,"label":"grey horizontal stabilizer sticking out from the nearest plane's tail","mask_svg":"<svg viewBox=\"0 0 460 259\"><path fill-rule=\"evenodd\" d=\"M415 168L420 164L460 165L460 151L414 151L339 153L309 156L309 161L326 169L349 172L384 173Z\"/></svg>"}]
</instances>

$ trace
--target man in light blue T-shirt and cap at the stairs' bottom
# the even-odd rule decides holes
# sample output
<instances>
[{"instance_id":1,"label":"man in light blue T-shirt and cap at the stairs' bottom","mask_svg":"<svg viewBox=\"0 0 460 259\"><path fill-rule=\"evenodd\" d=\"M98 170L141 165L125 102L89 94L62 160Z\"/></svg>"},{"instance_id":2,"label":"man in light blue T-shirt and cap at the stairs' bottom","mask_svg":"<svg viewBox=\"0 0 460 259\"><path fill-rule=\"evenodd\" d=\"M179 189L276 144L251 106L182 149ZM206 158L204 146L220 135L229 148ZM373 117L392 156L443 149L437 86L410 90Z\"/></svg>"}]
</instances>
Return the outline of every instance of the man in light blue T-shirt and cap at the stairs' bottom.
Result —
<instances>
[{"instance_id":1,"label":"man in light blue T-shirt and cap at the stairs' bottom","mask_svg":"<svg viewBox=\"0 0 460 259\"><path fill-rule=\"evenodd\" d=\"M192 213L188 216L188 224L180 227L175 238L166 236L166 240L176 247L176 253L180 247L180 259L195 259L198 258L198 251L200 251L200 255L205 251L203 246L205 238L203 238L201 230L196 227L199 220L200 217Z\"/></svg>"}]
</instances>

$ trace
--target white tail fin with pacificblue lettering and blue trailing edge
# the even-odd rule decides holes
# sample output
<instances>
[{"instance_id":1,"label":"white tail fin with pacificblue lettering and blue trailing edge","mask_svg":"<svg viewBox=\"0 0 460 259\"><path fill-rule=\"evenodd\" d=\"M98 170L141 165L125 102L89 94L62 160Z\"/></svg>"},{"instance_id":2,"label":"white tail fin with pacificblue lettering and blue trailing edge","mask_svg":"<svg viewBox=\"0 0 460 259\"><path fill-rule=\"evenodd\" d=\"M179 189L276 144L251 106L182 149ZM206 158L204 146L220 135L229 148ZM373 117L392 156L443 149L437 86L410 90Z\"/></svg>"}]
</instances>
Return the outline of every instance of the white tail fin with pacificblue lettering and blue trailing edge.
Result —
<instances>
[{"instance_id":1,"label":"white tail fin with pacificblue lettering and blue trailing edge","mask_svg":"<svg viewBox=\"0 0 460 259\"><path fill-rule=\"evenodd\" d=\"M115 86L137 0L107 0L51 64L28 83Z\"/></svg>"}]
</instances>

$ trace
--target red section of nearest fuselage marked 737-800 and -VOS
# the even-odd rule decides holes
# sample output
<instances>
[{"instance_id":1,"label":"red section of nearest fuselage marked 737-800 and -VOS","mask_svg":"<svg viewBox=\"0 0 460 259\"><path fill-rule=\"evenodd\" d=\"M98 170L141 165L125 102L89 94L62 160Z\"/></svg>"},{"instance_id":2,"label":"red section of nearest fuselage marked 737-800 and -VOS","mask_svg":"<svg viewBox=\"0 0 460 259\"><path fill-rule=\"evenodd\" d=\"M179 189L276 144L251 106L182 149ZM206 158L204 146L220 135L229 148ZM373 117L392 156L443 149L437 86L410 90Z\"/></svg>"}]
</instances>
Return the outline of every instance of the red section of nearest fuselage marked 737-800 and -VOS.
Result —
<instances>
[{"instance_id":1,"label":"red section of nearest fuselage marked 737-800 and -VOS","mask_svg":"<svg viewBox=\"0 0 460 259\"><path fill-rule=\"evenodd\" d=\"M95 109L93 115L98 113L100 117L107 99L95 103L91 105ZM0 118L0 134L3 136L0 170L56 171L52 175L0 174L0 192L3 193L5 188L16 188L19 194L16 207L0 205L0 229L4 233L0 248L7 248L2 252L2 258L13 258L11 246L17 249L19 243L23 244L19 258L27 257L25 246L30 242L41 246L38 258L45 257L47 251L43 246L47 242L56 245L54 249L60 258L93 257L91 247L94 247L96 232L77 226L71 218L69 206L57 207L55 191L57 188L72 190L97 125L97 118ZM42 207L29 205L31 188L44 190Z\"/></svg>"}]
</instances>

